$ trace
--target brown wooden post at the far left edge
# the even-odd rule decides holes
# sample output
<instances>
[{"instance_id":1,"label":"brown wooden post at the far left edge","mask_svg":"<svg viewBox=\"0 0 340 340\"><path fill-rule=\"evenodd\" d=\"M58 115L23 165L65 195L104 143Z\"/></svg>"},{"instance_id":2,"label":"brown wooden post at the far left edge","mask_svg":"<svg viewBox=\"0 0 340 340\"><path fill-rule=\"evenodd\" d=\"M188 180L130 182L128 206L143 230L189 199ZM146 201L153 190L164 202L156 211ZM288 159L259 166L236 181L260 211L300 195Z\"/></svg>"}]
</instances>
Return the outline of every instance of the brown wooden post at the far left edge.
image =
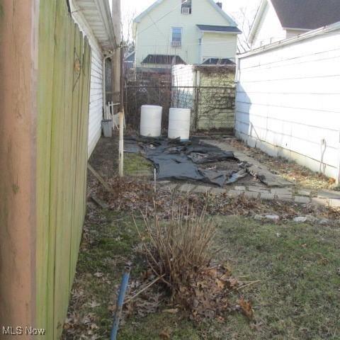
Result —
<instances>
[{"instance_id":1,"label":"brown wooden post at the far left edge","mask_svg":"<svg viewBox=\"0 0 340 340\"><path fill-rule=\"evenodd\" d=\"M0 1L0 338L35 322L38 8ZM21 336L28 339L28 336Z\"/></svg>"}]
</instances>

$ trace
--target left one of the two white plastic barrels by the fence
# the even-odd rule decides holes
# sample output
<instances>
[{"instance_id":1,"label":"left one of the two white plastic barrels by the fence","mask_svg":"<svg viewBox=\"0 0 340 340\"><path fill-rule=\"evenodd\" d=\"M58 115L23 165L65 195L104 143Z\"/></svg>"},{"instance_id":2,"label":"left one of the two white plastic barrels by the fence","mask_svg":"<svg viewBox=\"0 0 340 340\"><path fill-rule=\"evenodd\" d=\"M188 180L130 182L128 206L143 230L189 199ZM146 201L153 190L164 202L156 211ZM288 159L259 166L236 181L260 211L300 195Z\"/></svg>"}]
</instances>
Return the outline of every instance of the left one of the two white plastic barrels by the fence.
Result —
<instances>
[{"instance_id":1,"label":"left one of the two white plastic barrels by the fence","mask_svg":"<svg viewBox=\"0 0 340 340\"><path fill-rule=\"evenodd\" d=\"M140 113L140 135L159 137L162 134L162 106L143 105Z\"/></svg>"}]
</instances>

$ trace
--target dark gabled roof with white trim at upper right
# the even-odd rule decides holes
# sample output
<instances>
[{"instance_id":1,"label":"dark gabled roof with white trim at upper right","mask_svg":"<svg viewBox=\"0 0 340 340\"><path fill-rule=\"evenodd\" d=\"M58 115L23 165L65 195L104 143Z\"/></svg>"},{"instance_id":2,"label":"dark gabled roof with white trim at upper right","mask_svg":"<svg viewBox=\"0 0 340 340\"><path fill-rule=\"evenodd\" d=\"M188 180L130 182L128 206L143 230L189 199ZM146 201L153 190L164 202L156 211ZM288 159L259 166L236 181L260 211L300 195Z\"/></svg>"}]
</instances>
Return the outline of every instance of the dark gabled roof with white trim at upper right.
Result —
<instances>
[{"instance_id":1,"label":"dark gabled roof with white trim at upper right","mask_svg":"<svg viewBox=\"0 0 340 340\"><path fill-rule=\"evenodd\" d=\"M339 0L262 0L249 40L254 38L266 6L270 5L285 29L314 30L340 21Z\"/></svg>"}]
</instances>

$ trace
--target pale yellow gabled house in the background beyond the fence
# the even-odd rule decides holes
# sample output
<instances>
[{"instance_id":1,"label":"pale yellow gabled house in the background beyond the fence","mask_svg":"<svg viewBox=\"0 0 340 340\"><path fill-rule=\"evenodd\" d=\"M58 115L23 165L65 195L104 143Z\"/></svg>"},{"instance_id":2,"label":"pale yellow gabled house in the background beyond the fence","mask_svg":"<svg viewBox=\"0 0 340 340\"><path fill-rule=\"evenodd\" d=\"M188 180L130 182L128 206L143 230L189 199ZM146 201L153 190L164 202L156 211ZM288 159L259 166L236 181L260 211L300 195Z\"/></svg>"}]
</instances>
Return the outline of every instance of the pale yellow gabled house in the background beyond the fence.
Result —
<instances>
[{"instance_id":1,"label":"pale yellow gabled house in the background beyond the fence","mask_svg":"<svg viewBox=\"0 0 340 340\"><path fill-rule=\"evenodd\" d=\"M220 2L158 0L135 18L135 66L228 64L239 33Z\"/></svg>"}]
</instances>

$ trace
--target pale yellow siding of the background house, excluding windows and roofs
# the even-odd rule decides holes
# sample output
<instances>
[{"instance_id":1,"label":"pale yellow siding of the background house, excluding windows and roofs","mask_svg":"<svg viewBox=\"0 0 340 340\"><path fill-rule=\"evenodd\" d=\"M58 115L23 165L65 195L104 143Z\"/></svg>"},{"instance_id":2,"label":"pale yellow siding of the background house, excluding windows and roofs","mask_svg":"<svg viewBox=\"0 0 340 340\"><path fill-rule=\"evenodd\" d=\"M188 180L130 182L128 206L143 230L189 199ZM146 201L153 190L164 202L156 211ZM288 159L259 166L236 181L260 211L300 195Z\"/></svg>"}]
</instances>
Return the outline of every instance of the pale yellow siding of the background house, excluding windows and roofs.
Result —
<instances>
[{"instance_id":1,"label":"pale yellow siding of the background house, excluding windows and roofs","mask_svg":"<svg viewBox=\"0 0 340 340\"><path fill-rule=\"evenodd\" d=\"M206 0L193 0L192 13L181 13L181 0L165 0L142 17L140 23L136 23L136 64L141 66L142 60L149 54L179 55L187 64L199 64L201 62L200 38L202 33L196 25L234 26L228 22L219 11ZM181 27L182 46L171 47L171 27ZM208 39L204 38L205 48L209 50L209 56L234 57L236 54L236 35L218 34L218 43L208 45ZM234 45L231 42L233 37ZM216 39L215 35L212 37ZM215 40L214 40L215 41ZM229 52L230 49L230 52ZM208 52L208 51L207 51ZM215 55L216 54L216 55ZM227 57L228 57L227 56Z\"/></svg>"}]
</instances>

